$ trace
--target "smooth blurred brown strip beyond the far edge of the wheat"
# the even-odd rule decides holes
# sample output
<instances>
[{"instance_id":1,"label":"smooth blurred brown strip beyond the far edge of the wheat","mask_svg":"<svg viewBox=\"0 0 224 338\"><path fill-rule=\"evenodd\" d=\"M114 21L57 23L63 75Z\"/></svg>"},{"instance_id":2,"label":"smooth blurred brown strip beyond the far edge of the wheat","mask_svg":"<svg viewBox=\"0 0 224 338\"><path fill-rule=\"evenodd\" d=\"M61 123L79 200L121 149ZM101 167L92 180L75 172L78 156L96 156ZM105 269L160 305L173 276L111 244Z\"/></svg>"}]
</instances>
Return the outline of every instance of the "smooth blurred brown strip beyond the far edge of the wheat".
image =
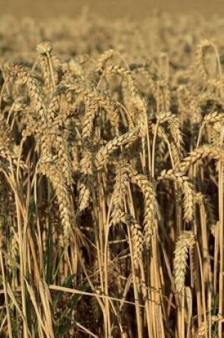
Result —
<instances>
[{"instance_id":1,"label":"smooth blurred brown strip beyond the far edge of the wheat","mask_svg":"<svg viewBox=\"0 0 224 338\"><path fill-rule=\"evenodd\" d=\"M110 19L124 16L144 19L155 10L175 14L198 12L206 15L208 19L212 14L224 14L223 0L0 0L1 15L13 14L18 18L75 17L79 16L85 7L92 14Z\"/></svg>"}]
</instances>

